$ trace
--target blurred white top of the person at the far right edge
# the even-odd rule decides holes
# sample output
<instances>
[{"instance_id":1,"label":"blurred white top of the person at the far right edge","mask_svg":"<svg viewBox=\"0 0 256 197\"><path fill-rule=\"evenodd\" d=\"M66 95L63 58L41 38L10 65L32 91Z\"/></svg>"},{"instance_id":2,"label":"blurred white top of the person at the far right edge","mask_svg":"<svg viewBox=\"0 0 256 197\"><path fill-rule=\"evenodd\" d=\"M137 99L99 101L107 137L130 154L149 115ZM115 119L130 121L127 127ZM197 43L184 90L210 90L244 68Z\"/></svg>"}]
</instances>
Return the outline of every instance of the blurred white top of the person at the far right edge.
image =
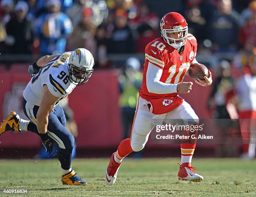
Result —
<instances>
[{"instance_id":1,"label":"blurred white top of the person at the far right edge","mask_svg":"<svg viewBox=\"0 0 256 197\"><path fill-rule=\"evenodd\" d=\"M238 79L238 110L239 111L256 111L256 76L245 74Z\"/></svg>"}]
</instances>

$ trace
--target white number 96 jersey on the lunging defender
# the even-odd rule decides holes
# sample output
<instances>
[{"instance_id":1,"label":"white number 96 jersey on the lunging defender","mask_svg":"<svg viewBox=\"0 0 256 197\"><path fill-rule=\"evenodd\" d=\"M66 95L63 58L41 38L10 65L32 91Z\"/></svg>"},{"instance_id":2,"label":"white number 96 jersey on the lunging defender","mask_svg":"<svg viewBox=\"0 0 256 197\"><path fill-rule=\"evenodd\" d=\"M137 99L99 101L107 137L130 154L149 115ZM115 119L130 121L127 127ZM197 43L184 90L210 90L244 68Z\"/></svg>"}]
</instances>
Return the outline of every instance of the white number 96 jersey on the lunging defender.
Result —
<instances>
[{"instance_id":1,"label":"white number 96 jersey on the lunging defender","mask_svg":"<svg viewBox=\"0 0 256 197\"><path fill-rule=\"evenodd\" d=\"M38 74L31 78L23 91L23 97L26 101L40 106L44 89L47 85L49 91L59 100L67 97L76 87L69 80L68 61L72 52L65 52L60 56L49 61L45 67L42 67Z\"/></svg>"}]
</instances>

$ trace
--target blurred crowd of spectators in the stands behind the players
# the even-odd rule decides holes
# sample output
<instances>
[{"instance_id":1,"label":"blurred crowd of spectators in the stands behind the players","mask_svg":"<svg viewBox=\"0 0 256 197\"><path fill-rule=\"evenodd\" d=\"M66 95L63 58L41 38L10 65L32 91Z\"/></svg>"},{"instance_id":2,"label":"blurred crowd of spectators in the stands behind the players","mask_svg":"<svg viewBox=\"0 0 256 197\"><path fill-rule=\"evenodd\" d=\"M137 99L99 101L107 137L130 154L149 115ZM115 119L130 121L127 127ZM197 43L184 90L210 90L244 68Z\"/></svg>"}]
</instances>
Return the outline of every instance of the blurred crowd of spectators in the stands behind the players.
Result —
<instances>
[{"instance_id":1,"label":"blurred crowd of spectators in the stands behind the players","mask_svg":"<svg viewBox=\"0 0 256 197\"><path fill-rule=\"evenodd\" d=\"M143 54L171 11L186 18L207 66L228 59L244 67L255 56L255 0L1 0L0 53L42 56L83 47L96 69L120 67L125 58L111 61L111 54Z\"/></svg>"}]
</instances>

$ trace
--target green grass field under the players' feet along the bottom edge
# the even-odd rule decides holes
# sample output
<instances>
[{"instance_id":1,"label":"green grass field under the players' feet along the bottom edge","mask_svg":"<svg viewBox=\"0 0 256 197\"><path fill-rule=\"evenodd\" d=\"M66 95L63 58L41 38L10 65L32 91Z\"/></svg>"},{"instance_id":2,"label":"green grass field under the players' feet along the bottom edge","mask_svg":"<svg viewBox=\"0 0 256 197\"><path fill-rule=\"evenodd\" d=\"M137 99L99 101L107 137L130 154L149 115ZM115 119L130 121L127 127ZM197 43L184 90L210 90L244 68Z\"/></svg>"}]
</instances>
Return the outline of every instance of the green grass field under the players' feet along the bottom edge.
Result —
<instances>
[{"instance_id":1,"label":"green grass field under the players' feet along the bottom edge","mask_svg":"<svg viewBox=\"0 0 256 197\"><path fill-rule=\"evenodd\" d=\"M256 196L256 160L194 159L201 183L178 181L178 158L127 159L113 186L105 184L108 159L75 159L73 169L84 178L86 187L61 184L58 160L0 160L0 189L29 189L25 195L0 196Z\"/></svg>"}]
</instances>

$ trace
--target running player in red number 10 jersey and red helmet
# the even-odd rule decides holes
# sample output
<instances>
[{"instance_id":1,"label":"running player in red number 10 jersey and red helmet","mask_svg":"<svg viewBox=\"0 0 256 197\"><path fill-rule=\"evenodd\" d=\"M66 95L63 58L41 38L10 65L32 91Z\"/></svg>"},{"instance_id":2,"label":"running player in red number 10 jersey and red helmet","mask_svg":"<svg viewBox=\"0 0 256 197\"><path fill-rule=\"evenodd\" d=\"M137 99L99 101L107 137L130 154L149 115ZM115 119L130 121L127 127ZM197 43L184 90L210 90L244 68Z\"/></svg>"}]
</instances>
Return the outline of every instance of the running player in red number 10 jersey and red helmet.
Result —
<instances>
[{"instance_id":1,"label":"running player in red number 10 jersey and red helmet","mask_svg":"<svg viewBox=\"0 0 256 197\"><path fill-rule=\"evenodd\" d=\"M143 82L139 90L131 138L120 142L105 172L106 183L110 185L115 183L123 158L144 148L152 130L151 124L158 125L159 120L161 123L170 123L172 119L187 120L189 125L198 123L198 116L192 107L178 95L192 90L192 82L182 81L190 64L198 63L195 59L197 40L188 33L186 20L179 13L164 15L160 27L161 38L148 43L145 49ZM202 86L212 84L211 73L208 73L205 80L197 79L195 82ZM169 101L172 105L169 105ZM181 144L179 179L193 182L203 180L191 166L195 146L196 144Z\"/></svg>"}]
</instances>

